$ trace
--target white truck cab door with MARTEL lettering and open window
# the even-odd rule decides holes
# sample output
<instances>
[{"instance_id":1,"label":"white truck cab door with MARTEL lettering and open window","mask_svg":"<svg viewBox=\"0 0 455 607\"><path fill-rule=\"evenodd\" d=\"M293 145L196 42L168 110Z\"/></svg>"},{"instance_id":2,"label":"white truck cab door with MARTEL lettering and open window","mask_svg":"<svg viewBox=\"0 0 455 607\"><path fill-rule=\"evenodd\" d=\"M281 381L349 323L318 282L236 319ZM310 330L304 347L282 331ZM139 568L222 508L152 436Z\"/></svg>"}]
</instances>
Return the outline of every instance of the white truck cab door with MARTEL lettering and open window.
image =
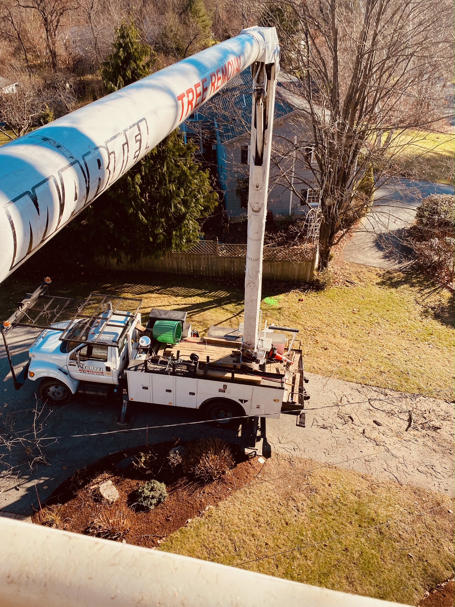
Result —
<instances>
[{"instance_id":1,"label":"white truck cab door with MARTEL lettering and open window","mask_svg":"<svg viewBox=\"0 0 455 607\"><path fill-rule=\"evenodd\" d=\"M107 345L85 344L68 355L68 370L73 379L113 384L112 350Z\"/></svg>"}]
</instances>

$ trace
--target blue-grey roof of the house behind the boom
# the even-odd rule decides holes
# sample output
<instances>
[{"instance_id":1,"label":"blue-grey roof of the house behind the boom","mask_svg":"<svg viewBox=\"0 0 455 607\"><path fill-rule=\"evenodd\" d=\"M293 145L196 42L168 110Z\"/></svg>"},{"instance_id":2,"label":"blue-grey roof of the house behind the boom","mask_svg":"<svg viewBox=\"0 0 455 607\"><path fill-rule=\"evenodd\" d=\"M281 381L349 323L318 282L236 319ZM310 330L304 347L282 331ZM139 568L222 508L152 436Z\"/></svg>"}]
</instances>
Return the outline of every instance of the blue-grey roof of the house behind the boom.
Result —
<instances>
[{"instance_id":1,"label":"blue-grey roof of the house behind the boom","mask_svg":"<svg viewBox=\"0 0 455 607\"><path fill-rule=\"evenodd\" d=\"M289 76L286 79L288 78ZM295 109L300 109L300 107L293 107L281 95L281 85L286 79L281 76L281 73L278 75L277 94L275 95L275 120L292 114ZM202 121L215 126L220 143L227 143L227 141L248 134L251 130L252 87L251 71L243 70L220 93L217 93L215 97L208 101L201 110L197 110L186 120L186 132L196 132L194 123Z\"/></svg>"}]
</instances>

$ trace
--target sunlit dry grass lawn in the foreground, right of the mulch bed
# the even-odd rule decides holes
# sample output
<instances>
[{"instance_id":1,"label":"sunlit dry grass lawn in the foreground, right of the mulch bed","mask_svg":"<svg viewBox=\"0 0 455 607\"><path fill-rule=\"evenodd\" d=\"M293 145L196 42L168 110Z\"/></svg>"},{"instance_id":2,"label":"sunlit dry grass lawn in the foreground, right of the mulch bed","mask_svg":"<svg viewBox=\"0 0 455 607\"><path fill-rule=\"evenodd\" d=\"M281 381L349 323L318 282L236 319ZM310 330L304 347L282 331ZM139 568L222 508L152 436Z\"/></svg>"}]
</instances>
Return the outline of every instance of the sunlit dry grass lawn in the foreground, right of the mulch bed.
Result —
<instances>
[{"instance_id":1,"label":"sunlit dry grass lawn in the foreground, right of the mulch bed","mask_svg":"<svg viewBox=\"0 0 455 607\"><path fill-rule=\"evenodd\" d=\"M455 570L454 501L274 456L160 549L416 605Z\"/></svg>"}]
</instances>

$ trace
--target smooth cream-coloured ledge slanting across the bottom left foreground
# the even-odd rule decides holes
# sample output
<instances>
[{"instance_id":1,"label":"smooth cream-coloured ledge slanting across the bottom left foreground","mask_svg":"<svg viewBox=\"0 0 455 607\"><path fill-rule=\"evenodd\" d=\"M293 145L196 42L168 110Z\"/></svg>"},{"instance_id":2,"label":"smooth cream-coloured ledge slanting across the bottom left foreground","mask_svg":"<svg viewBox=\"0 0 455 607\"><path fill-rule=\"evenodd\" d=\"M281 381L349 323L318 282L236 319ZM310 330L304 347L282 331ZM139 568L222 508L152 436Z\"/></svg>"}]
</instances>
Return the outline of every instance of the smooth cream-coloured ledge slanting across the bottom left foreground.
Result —
<instances>
[{"instance_id":1,"label":"smooth cream-coloured ledge slanting across the bottom left foreground","mask_svg":"<svg viewBox=\"0 0 455 607\"><path fill-rule=\"evenodd\" d=\"M0 518L2 607L387 607L182 557Z\"/></svg>"}]
</instances>

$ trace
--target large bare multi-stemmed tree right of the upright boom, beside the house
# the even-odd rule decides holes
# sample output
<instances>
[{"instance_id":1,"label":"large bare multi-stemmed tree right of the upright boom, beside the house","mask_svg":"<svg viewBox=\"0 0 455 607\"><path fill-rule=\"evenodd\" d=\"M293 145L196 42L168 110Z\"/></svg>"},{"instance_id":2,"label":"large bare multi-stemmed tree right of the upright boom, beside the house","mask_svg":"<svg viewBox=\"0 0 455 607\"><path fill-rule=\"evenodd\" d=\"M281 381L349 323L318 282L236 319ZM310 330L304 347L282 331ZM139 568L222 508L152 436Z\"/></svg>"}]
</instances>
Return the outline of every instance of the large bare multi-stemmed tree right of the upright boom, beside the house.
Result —
<instances>
[{"instance_id":1,"label":"large bare multi-stemmed tree right of the upright boom, beside the house","mask_svg":"<svg viewBox=\"0 0 455 607\"><path fill-rule=\"evenodd\" d=\"M399 164L399 135L436 128L437 83L453 64L453 4L442 0L435 11L431 0L295 0L289 7L295 35L289 23L285 35L283 24L277 29L311 125L314 155L305 159L299 148L297 156L320 192L326 268L331 246L361 212L363 175L374 167L383 183Z\"/></svg>"}]
</instances>

